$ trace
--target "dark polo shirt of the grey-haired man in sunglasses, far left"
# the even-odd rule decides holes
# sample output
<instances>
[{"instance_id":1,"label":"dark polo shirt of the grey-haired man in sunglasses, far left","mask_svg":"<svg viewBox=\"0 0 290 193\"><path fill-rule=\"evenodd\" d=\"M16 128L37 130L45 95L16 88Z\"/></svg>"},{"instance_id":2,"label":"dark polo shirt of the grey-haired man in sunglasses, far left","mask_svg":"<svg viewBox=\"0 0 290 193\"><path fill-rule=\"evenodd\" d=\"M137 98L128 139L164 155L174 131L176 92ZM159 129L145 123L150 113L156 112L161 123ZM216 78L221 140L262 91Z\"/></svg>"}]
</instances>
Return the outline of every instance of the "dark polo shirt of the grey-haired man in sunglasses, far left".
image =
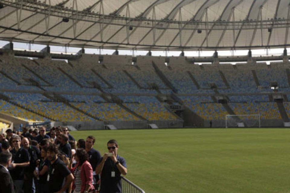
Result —
<instances>
[{"instance_id":1,"label":"dark polo shirt of the grey-haired man in sunglasses, far left","mask_svg":"<svg viewBox=\"0 0 290 193\"><path fill-rule=\"evenodd\" d=\"M18 151L15 149L11 150L12 153L12 163L24 163L29 162L29 153L23 147L20 147ZM25 167L15 167L10 170L10 175L13 180L23 180L24 179L24 169Z\"/></svg>"}]
</instances>

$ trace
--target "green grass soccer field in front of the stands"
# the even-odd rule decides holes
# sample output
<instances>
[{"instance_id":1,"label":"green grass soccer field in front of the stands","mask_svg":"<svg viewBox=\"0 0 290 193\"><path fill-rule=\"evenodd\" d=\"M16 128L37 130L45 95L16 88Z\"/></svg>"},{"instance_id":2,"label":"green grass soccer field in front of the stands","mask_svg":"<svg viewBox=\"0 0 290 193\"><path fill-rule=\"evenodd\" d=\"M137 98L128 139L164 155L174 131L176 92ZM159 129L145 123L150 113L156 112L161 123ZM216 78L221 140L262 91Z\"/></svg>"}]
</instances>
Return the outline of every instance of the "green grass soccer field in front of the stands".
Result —
<instances>
[{"instance_id":1,"label":"green grass soccer field in front of the stands","mask_svg":"<svg viewBox=\"0 0 290 193\"><path fill-rule=\"evenodd\" d=\"M155 129L71 131L110 139L127 161L126 178L146 193L290 192L289 129Z\"/></svg>"}]
</instances>

